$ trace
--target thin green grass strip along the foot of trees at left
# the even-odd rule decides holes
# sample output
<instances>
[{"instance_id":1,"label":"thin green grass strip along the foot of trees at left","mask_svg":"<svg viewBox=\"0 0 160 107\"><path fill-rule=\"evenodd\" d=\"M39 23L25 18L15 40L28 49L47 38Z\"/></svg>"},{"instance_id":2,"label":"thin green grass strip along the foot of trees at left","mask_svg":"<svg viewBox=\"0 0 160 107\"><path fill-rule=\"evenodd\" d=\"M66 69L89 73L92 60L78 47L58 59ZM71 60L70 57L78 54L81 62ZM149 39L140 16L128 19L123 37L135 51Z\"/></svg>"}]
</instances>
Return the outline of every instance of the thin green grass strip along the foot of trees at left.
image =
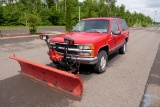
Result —
<instances>
[{"instance_id":1,"label":"thin green grass strip along the foot of trees at left","mask_svg":"<svg viewBox=\"0 0 160 107\"><path fill-rule=\"evenodd\" d=\"M38 26L38 28L62 28L64 26ZM28 26L0 26L0 30L28 29Z\"/></svg>"}]
</instances>

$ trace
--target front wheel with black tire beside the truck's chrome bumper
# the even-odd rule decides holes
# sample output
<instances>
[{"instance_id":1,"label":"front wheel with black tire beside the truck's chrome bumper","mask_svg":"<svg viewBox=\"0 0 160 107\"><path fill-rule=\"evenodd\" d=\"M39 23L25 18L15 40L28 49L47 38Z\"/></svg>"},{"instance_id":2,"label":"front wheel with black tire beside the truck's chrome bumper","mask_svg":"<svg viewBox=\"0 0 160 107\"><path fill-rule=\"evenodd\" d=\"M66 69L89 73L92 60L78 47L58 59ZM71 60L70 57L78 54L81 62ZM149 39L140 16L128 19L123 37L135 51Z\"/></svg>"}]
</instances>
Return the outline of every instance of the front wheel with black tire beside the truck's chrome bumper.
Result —
<instances>
[{"instance_id":1,"label":"front wheel with black tire beside the truck's chrome bumper","mask_svg":"<svg viewBox=\"0 0 160 107\"><path fill-rule=\"evenodd\" d=\"M103 58L103 59L102 59ZM103 61L103 62L102 62ZM100 51L98 53L98 62L94 66L94 70L96 73L103 73L106 71L107 68L107 62L108 62L108 56L106 51Z\"/></svg>"}]
</instances>

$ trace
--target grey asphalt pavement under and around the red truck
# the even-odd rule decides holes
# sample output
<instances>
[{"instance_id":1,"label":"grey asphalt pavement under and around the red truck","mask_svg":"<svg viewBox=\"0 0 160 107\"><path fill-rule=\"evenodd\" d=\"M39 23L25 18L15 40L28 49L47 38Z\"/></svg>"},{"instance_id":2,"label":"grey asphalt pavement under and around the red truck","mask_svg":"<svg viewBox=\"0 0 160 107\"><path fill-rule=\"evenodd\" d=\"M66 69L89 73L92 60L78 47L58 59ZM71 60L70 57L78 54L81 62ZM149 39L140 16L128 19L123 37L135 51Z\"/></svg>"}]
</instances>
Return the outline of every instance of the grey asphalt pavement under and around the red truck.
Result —
<instances>
[{"instance_id":1,"label":"grey asphalt pavement under and around the red truck","mask_svg":"<svg viewBox=\"0 0 160 107\"><path fill-rule=\"evenodd\" d=\"M109 56L105 73L81 67L90 73L80 74L84 93L81 101L75 101L21 76L19 64L9 59L15 54L52 65L44 41L38 37L0 39L0 107L160 107L159 44L160 27L131 28L126 54Z\"/></svg>"}]
</instances>

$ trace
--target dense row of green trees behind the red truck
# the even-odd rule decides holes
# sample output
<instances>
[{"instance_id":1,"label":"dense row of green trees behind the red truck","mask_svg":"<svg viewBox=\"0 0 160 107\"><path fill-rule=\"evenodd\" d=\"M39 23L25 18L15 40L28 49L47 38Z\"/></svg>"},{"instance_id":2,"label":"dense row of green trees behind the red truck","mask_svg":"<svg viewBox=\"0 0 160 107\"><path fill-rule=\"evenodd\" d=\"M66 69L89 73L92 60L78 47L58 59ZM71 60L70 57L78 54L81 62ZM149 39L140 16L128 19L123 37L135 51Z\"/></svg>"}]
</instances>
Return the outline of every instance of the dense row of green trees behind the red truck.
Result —
<instances>
[{"instance_id":1,"label":"dense row of green trees behind the red truck","mask_svg":"<svg viewBox=\"0 0 160 107\"><path fill-rule=\"evenodd\" d=\"M152 19L125 5L116 6L116 0L0 0L0 26L74 26L88 17L124 18L129 26L151 24Z\"/></svg>"}]
</instances>

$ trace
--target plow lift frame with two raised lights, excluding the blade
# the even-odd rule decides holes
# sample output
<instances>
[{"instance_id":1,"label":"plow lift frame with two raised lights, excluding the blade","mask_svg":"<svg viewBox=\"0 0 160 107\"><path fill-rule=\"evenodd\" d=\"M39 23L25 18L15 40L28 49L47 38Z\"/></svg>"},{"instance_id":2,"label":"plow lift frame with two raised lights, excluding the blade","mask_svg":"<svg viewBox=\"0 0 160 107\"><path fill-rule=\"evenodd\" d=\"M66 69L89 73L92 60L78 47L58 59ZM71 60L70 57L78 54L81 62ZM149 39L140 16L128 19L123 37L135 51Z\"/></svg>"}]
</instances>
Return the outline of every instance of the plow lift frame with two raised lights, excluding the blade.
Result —
<instances>
[{"instance_id":1,"label":"plow lift frame with two raised lights, excluding the blade","mask_svg":"<svg viewBox=\"0 0 160 107\"><path fill-rule=\"evenodd\" d=\"M49 48L50 59L57 66L58 69L71 73L79 73L80 62L78 62L77 60L73 61L71 59L72 56L67 54L69 46L74 45L74 40L72 38L64 38L64 43L66 43L67 45L66 47L64 47L63 56L61 54L58 54L56 51L56 49L58 50L59 47L56 46L55 49L54 46L49 43L49 37L47 35L40 35L40 39L45 40Z\"/></svg>"}]
</instances>

